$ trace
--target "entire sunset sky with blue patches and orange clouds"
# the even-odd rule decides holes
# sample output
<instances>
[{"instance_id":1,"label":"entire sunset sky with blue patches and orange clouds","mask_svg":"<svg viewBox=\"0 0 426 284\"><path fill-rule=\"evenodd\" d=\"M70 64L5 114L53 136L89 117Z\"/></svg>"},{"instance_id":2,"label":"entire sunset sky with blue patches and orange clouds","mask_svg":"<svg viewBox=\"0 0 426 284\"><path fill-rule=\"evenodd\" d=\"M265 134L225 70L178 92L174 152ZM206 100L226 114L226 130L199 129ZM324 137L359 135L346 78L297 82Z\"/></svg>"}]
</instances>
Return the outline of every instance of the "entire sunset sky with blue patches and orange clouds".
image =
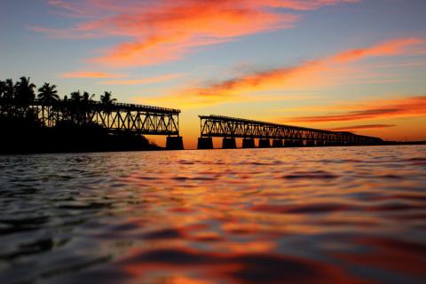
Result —
<instances>
[{"instance_id":1,"label":"entire sunset sky with blue patches and orange clouds","mask_svg":"<svg viewBox=\"0 0 426 284\"><path fill-rule=\"evenodd\" d=\"M179 108L185 148L199 114L426 140L424 0L0 2L0 79Z\"/></svg>"}]
</instances>

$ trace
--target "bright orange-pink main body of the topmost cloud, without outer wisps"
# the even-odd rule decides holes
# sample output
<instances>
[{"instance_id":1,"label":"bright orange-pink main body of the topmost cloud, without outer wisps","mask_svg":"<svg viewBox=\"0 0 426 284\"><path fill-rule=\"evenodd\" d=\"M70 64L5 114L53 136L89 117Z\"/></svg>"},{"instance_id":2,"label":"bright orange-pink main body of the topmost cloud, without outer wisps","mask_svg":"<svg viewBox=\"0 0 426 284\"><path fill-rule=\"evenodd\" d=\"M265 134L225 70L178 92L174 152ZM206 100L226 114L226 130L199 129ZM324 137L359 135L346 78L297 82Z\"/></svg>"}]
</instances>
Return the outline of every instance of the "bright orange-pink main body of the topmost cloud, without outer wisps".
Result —
<instances>
[{"instance_id":1,"label":"bright orange-pink main body of the topmost cloud, without outer wisps","mask_svg":"<svg viewBox=\"0 0 426 284\"><path fill-rule=\"evenodd\" d=\"M104 56L91 59L92 62L123 67L181 59L193 47L289 28L296 19L296 15L258 11L241 4L189 1L165 8L153 7L148 12L120 14L86 23L81 28L99 28L106 34L134 37L135 41L118 44Z\"/></svg>"}]
</instances>

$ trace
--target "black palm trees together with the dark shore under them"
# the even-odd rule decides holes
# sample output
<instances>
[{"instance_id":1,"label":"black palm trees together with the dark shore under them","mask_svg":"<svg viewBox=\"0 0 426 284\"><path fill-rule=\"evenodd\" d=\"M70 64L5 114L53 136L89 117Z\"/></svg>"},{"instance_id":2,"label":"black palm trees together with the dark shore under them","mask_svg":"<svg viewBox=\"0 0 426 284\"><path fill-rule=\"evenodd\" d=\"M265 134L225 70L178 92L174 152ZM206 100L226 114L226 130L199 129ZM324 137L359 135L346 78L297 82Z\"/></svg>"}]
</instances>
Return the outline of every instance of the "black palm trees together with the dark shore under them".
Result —
<instances>
[{"instance_id":1,"label":"black palm trees together with the dark shore under them","mask_svg":"<svg viewBox=\"0 0 426 284\"><path fill-rule=\"evenodd\" d=\"M130 133L110 133L96 122L92 122L91 104L112 106L116 99L111 91L105 91L100 101L95 94L73 91L60 99L55 84L44 83L37 91L29 77L0 80L0 154L99 152L156 150L161 147L145 137ZM61 119L40 117L33 105L41 104L49 110L60 108ZM107 111L106 107L106 111ZM54 111L47 112L55 114ZM59 115L59 112L56 112ZM44 114L44 113L43 113Z\"/></svg>"}]
</instances>

